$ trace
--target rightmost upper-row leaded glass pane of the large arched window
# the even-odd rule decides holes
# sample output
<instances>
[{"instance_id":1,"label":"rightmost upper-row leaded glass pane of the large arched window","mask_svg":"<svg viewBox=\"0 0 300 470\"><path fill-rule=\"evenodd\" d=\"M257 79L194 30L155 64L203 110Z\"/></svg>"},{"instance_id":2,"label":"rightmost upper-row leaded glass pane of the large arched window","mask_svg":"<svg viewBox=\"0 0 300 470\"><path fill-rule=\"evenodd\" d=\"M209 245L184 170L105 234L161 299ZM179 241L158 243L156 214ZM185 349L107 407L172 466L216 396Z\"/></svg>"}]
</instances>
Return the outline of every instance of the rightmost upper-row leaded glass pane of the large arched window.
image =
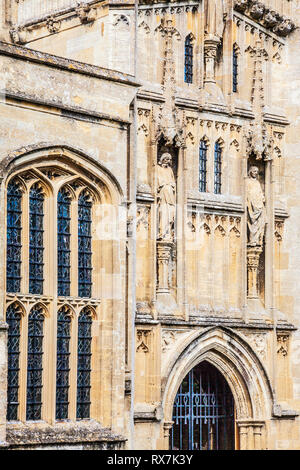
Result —
<instances>
[{"instance_id":1,"label":"rightmost upper-row leaded glass pane of the large arched window","mask_svg":"<svg viewBox=\"0 0 300 470\"><path fill-rule=\"evenodd\" d=\"M78 199L78 295L92 295L92 202L88 191Z\"/></svg>"}]
</instances>

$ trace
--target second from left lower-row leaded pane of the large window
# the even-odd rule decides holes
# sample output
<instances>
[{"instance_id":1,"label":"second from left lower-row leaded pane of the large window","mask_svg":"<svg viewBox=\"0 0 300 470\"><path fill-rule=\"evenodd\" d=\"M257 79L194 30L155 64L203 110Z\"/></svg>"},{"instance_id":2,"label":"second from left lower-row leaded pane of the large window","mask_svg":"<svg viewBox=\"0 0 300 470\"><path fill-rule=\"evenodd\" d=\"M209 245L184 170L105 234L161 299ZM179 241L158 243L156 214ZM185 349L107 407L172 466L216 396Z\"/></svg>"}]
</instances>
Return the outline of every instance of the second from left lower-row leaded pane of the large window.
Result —
<instances>
[{"instance_id":1,"label":"second from left lower-row leaded pane of the large window","mask_svg":"<svg viewBox=\"0 0 300 470\"><path fill-rule=\"evenodd\" d=\"M33 307L28 318L26 419L41 419L43 376L43 308Z\"/></svg>"}]
</instances>

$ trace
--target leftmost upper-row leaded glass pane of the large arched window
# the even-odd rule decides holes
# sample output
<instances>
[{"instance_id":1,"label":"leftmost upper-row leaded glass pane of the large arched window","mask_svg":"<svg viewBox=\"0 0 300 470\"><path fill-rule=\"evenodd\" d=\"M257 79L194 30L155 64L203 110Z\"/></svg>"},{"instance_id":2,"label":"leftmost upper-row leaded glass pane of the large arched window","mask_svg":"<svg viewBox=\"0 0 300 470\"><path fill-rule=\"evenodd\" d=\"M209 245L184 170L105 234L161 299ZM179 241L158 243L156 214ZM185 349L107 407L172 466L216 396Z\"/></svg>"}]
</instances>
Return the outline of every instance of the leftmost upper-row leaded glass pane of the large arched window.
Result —
<instances>
[{"instance_id":1,"label":"leftmost upper-row leaded glass pane of the large arched window","mask_svg":"<svg viewBox=\"0 0 300 470\"><path fill-rule=\"evenodd\" d=\"M12 181L7 187L6 289L8 292L20 292L21 288L21 203L20 184Z\"/></svg>"}]
</instances>

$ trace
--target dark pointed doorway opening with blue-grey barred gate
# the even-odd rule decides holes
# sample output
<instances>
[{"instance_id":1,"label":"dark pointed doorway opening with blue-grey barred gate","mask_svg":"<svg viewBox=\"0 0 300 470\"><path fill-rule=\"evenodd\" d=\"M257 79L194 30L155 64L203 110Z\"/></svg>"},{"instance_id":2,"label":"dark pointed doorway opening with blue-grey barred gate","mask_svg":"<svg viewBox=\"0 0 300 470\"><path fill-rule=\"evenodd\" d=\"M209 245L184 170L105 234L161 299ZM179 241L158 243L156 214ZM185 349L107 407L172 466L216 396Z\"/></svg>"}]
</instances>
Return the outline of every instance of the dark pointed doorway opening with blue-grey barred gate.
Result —
<instances>
[{"instance_id":1,"label":"dark pointed doorway opening with blue-grey barred gate","mask_svg":"<svg viewBox=\"0 0 300 470\"><path fill-rule=\"evenodd\" d=\"M173 406L172 450L233 450L234 400L222 374L204 361L183 379Z\"/></svg>"}]
</instances>

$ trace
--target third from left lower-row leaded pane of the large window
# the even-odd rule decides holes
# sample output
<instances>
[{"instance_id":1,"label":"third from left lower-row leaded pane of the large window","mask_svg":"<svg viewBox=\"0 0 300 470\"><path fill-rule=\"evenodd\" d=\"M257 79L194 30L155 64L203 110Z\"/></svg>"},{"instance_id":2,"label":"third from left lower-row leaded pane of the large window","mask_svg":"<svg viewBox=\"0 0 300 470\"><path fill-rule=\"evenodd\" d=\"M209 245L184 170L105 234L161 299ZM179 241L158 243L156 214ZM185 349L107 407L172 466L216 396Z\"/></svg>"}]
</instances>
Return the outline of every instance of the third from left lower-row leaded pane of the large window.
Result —
<instances>
[{"instance_id":1,"label":"third from left lower-row leaded pane of the large window","mask_svg":"<svg viewBox=\"0 0 300 470\"><path fill-rule=\"evenodd\" d=\"M68 307L57 313L56 419L68 418L71 317Z\"/></svg>"}]
</instances>

